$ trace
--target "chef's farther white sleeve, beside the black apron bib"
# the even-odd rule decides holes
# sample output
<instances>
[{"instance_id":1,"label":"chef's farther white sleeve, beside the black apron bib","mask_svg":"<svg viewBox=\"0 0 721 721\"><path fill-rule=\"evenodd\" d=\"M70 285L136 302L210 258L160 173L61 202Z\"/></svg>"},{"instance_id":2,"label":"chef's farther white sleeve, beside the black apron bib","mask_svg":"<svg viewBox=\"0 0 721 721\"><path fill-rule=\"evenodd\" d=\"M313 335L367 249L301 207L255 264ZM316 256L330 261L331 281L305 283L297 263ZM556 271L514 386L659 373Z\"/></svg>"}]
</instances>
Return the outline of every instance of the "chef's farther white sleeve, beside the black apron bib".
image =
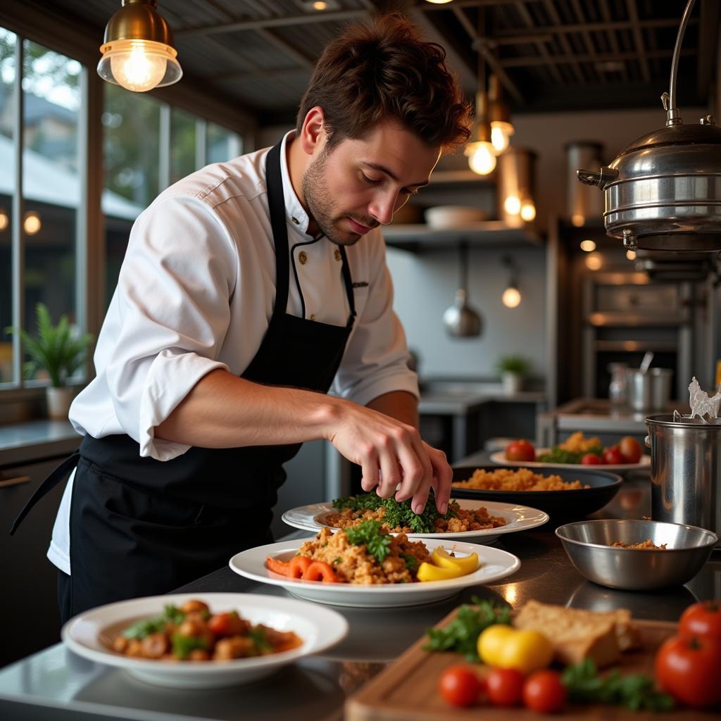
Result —
<instances>
[{"instance_id":1,"label":"chef's farther white sleeve, beside the black apron bib","mask_svg":"<svg viewBox=\"0 0 721 721\"><path fill-rule=\"evenodd\" d=\"M338 396L361 405L393 391L419 396L417 376L408 368L403 327L393 311L393 283L386 265L385 243L380 235L368 241L368 298L355 319L332 388Z\"/></svg>"}]
</instances>

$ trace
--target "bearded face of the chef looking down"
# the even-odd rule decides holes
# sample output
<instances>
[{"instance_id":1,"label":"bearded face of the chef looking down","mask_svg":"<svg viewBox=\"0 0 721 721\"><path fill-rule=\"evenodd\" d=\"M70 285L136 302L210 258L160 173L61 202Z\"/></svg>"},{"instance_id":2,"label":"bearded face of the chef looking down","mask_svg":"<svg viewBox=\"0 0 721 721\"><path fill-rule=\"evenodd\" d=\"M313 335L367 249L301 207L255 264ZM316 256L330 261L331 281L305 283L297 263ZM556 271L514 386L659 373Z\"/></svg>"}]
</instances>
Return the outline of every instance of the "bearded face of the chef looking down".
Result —
<instances>
[{"instance_id":1,"label":"bearded face of the chef looking down","mask_svg":"<svg viewBox=\"0 0 721 721\"><path fill-rule=\"evenodd\" d=\"M331 149L324 137L304 173L302 191L311 217L337 245L353 245L371 228L390 223L393 213L428 185L440 156L440 149L392 123Z\"/></svg>"}]
</instances>

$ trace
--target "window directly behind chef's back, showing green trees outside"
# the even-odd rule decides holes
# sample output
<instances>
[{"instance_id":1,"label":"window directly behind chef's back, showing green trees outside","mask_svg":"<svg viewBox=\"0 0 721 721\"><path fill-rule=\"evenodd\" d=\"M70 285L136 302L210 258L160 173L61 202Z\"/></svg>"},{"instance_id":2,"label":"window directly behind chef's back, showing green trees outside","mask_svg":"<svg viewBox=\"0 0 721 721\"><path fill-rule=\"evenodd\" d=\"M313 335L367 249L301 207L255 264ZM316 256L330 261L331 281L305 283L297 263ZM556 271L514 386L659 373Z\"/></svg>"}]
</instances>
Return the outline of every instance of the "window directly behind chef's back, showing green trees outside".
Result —
<instances>
[{"instance_id":1,"label":"window directly behind chef's back, showing green trees outside","mask_svg":"<svg viewBox=\"0 0 721 721\"><path fill-rule=\"evenodd\" d=\"M110 84L105 85L102 124L107 309L133 221L168 185L205 164L240 155L242 138L198 115Z\"/></svg>"}]
</instances>

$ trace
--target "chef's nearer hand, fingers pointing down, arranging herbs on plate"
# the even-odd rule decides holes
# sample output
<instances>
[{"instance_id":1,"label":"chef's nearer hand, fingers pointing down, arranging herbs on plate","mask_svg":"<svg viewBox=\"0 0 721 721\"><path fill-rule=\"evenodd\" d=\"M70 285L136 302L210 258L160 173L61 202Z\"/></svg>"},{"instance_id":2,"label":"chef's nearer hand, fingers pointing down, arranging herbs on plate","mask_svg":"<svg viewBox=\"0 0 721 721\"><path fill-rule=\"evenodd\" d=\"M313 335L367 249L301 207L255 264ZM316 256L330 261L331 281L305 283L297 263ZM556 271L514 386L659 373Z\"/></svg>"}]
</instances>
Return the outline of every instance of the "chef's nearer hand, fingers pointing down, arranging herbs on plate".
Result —
<instances>
[{"instance_id":1,"label":"chef's nearer hand, fingers pointing down, arranging herbs on plate","mask_svg":"<svg viewBox=\"0 0 721 721\"><path fill-rule=\"evenodd\" d=\"M446 454L422 441L412 425L348 403L328 440L340 454L361 466L363 490L377 487L379 496L395 496L397 501L412 498L412 510L423 513L433 488L438 513L448 510L453 472Z\"/></svg>"}]
</instances>

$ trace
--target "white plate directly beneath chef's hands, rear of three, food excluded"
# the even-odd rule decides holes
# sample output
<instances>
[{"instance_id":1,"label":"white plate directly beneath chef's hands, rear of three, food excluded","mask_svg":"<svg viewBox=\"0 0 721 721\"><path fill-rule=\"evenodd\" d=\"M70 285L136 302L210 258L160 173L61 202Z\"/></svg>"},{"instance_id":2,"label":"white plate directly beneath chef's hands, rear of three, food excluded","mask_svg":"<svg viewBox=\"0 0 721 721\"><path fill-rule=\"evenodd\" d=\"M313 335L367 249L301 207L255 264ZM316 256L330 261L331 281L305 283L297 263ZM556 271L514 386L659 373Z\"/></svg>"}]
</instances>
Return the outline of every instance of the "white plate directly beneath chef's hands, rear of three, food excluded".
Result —
<instances>
[{"instance_id":1,"label":"white plate directly beneath chef's hands, rear of three, food excluded","mask_svg":"<svg viewBox=\"0 0 721 721\"><path fill-rule=\"evenodd\" d=\"M476 543L491 543L501 534L513 534L516 531L528 531L529 528L543 526L548 521L548 514L537 508L528 508L526 505L513 505L512 503L497 503L495 501L465 500L458 501L461 508L474 510L485 506L491 516L505 518L505 526L487 528L485 531L461 531L460 533L438 534L406 534L409 538L424 541L425 539L447 539L448 541L475 541ZM326 528L324 518L335 509L332 503L313 503L291 508L283 513L283 521L293 528L302 528L304 531L320 531ZM328 526L335 528L335 526Z\"/></svg>"}]
</instances>

